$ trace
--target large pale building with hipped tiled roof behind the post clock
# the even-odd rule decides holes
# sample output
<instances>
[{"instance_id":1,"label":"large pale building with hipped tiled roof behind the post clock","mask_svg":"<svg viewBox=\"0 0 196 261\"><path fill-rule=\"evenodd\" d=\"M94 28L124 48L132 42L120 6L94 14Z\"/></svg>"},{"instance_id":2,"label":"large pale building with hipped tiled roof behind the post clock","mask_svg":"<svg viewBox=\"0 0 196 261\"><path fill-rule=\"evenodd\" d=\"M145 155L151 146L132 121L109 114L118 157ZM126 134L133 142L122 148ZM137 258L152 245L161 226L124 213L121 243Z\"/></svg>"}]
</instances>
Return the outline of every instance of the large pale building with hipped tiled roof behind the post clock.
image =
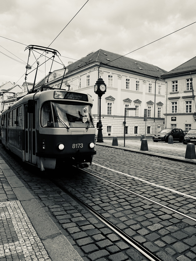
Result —
<instances>
[{"instance_id":1,"label":"large pale building with hipped tiled roof behind the post clock","mask_svg":"<svg viewBox=\"0 0 196 261\"><path fill-rule=\"evenodd\" d=\"M64 69L55 70L39 81L42 84L75 92L88 93L94 100L94 123L99 118L98 96L94 85L102 78L107 86L101 98L103 137L145 134L144 109L147 109L146 135L164 128L165 70L153 64L137 61L105 50L92 51ZM64 78L63 78L64 75ZM125 108L136 108L127 110Z\"/></svg>"}]
</instances>

